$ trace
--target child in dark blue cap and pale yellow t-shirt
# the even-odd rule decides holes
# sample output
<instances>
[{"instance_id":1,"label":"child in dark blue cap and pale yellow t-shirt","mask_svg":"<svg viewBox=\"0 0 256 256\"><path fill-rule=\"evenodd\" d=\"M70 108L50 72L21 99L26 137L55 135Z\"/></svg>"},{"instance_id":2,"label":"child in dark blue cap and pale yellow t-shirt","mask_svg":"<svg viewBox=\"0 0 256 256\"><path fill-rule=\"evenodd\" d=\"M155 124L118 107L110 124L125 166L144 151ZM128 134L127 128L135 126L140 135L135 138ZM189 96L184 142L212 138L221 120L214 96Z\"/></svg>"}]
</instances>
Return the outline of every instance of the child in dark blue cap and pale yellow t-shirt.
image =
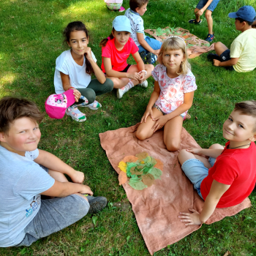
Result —
<instances>
[{"instance_id":1,"label":"child in dark blue cap and pale yellow t-shirt","mask_svg":"<svg viewBox=\"0 0 256 256\"><path fill-rule=\"evenodd\" d=\"M217 67L236 72L252 71L256 67L256 30L252 29L255 9L244 6L237 12L230 12L228 17L236 19L236 29L242 33L232 42L230 49L222 42L217 42L214 46L217 54L210 53L207 57Z\"/></svg>"}]
</instances>

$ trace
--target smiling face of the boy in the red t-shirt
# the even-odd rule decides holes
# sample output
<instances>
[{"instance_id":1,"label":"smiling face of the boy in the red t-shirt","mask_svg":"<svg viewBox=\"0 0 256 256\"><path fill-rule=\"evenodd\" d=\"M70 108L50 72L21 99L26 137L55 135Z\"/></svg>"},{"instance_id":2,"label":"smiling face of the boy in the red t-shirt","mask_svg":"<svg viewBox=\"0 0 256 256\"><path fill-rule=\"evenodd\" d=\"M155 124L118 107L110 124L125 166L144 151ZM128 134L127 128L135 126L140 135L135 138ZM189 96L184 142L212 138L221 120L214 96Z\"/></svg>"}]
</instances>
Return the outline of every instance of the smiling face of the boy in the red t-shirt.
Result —
<instances>
[{"instance_id":1,"label":"smiling face of the boy in the red t-shirt","mask_svg":"<svg viewBox=\"0 0 256 256\"><path fill-rule=\"evenodd\" d=\"M256 118L241 114L238 110L233 110L223 124L223 137L236 142L255 141L254 135L256 132L253 132L255 123Z\"/></svg>"}]
</instances>

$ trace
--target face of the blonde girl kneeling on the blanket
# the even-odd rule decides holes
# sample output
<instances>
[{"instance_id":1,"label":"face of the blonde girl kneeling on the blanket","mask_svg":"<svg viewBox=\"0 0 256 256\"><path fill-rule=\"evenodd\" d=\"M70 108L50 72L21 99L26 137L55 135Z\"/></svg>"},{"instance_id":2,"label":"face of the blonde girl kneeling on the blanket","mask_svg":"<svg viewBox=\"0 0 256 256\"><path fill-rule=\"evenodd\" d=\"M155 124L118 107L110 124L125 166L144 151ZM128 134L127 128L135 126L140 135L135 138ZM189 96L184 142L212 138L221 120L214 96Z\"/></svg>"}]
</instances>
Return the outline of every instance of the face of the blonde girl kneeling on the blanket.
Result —
<instances>
[{"instance_id":1,"label":"face of the blonde girl kneeling on the blanket","mask_svg":"<svg viewBox=\"0 0 256 256\"><path fill-rule=\"evenodd\" d=\"M181 61L184 61L184 59L184 53L181 49L167 50L162 53L162 64L172 72L180 71Z\"/></svg>"}]
</instances>

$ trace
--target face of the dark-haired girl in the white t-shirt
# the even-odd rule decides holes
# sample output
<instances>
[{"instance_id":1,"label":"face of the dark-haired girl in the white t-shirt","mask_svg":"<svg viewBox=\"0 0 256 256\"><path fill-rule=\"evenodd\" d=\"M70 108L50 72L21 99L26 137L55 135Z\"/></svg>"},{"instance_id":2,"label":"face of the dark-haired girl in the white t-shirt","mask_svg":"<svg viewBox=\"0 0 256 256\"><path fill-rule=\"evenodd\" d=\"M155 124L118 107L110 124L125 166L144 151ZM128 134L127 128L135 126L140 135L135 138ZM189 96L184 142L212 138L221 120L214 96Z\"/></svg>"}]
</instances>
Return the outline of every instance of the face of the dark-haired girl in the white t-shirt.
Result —
<instances>
[{"instance_id":1,"label":"face of the dark-haired girl in the white t-shirt","mask_svg":"<svg viewBox=\"0 0 256 256\"><path fill-rule=\"evenodd\" d=\"M67 44L72 48L72 52L78 56L83 56L89 43L85 31L72 31Z\"/></svg>"}]
</instances>

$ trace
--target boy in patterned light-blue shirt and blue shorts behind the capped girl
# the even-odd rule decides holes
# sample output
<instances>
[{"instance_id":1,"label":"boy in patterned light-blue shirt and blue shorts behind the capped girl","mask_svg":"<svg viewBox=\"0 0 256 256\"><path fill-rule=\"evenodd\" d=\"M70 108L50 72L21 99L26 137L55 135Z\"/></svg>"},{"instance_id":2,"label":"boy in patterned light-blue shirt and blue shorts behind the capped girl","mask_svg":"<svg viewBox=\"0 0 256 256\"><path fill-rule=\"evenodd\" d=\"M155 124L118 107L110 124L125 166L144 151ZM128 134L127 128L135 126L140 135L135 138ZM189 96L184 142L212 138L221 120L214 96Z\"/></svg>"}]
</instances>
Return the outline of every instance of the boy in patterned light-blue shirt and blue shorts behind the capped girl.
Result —
<instances>
[{"instance_id":1,"label":"boy in patterned light-blue shirt and blue shorts behind the capped girl","mask_svg":"<svg viewBox=\"0 0 256 256\"><path fill-rule=\"evenodd\" d=\"M130 20L132 27L131 37L138 46L139 53L142 53L144 50L146 54L154 53L158 56L162 42L148 36L146 37L144 33L143 19L141 16L146 12L147 5L148 0L129 0L130 8L124 15Z\"/></svg>"}]
</instances>

